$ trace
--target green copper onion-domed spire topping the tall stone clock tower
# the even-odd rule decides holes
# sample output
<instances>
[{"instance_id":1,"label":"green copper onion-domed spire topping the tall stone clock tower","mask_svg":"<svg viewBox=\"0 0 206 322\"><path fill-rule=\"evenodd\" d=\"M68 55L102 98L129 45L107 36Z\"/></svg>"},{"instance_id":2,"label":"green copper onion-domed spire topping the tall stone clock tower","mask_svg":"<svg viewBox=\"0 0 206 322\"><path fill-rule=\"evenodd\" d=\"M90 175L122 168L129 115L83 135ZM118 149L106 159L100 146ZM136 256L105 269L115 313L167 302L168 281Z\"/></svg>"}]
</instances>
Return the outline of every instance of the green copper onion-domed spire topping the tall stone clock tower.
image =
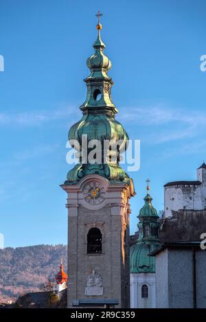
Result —
<instances>
[{"instance_id":1,"label":"green copper onion-domed spire topping the tall stone clock tower","mask_svg":"<svg viewBox=\"0 0 206 322\"><path fill-rule=\"evenodd\" d=\"M100 29L102 29L100 23L97 29L98 37L93 44L95 52L87 59L90 75L84 79L87 84L87 97L80 106L83 114L82 119L71 126L68 134L71 146L78 151L79 163L67 173L65 185L77 184L82 177L91 174L102 175L113 183L130 184L130 177L119 166L119 155L127 148L128 134L122 124L115 120L117 109L111 100L113 81L107 75L108 70L111 69L111 61L104 55L105 45L100 36ZM98 140L101 143L102 159L97 160L95 164L84 162L90 152L89 144L86 152L82 147L84 137L87 137L88 143L91 140ZM113 146L121 140L121 144L118 143L115 162L111 158L107 158L107 160L104 158L105 154L111 156L113 153L111 151L112 145L111 147L104 146L105 140L113 142ZM79 147L74 142L78 142Z\"/></svg>"}]
</instances>

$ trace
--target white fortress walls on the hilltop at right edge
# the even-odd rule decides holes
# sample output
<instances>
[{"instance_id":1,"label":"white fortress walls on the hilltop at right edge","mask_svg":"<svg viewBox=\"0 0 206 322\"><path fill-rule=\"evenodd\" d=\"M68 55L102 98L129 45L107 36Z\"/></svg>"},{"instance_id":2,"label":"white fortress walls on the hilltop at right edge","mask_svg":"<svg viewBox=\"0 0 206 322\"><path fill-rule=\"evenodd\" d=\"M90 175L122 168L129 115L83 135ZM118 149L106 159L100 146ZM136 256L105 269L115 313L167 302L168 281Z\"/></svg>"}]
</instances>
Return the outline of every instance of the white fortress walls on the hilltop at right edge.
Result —
<instances>
[{"instance_id":1,"label":"white fortress walls on the hilltop at right edge","mask_svg":"<svg viewBox=\"0 0 206 322\"><path fill-rule=\"evenodd\" d=\"M165 184L165 216L177 210L204 210L206 208L206 164L197 169L196 181L175 181Z\"/></svg>"}]
</instances>

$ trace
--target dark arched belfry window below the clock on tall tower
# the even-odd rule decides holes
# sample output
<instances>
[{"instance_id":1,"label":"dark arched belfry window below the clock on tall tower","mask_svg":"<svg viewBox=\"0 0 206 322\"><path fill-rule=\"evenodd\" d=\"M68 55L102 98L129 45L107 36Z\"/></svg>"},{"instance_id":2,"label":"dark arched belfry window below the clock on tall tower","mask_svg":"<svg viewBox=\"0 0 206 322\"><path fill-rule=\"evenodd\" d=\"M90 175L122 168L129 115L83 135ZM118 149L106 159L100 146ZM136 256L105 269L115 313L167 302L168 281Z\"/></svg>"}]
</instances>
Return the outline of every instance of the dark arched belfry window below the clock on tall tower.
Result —
<instances>
[{"instance_id":1,"label":"dark arched belfry window below the clock on tall tower","mask_svg":"<svg viewBox=\"0 0 206 322\"><path fill-rule=\"evenodd\" d=\"M91 228L87 234L87 253L102 253L102 234L99 228Z\"/></svg>"}]
</instances>

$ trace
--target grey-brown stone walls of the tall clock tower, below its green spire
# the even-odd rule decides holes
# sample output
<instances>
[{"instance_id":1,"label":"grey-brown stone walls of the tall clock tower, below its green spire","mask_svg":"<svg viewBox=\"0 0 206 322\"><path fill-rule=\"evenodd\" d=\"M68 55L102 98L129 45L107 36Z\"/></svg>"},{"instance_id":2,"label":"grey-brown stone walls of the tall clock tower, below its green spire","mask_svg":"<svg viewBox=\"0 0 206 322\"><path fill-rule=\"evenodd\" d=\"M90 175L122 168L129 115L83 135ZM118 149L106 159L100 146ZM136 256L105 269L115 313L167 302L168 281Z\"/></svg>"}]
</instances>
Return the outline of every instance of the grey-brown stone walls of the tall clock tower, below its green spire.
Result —
<instances>
[{"instance_id":1,"label":"grey-brown stone walls of the tall clock tower, below its green spire","mask_svg":"<svg viewBox=\"0 0 206 322\"><path fill-rule=\"evenodd\" d=\"M93 207L84 199L90 182L104 187L104 201ZM100 175L88 175L79 184L62 185L67 192L68 233L68 307L77 299L117 299L119 307L130 307L129 281L129 214L128 199L133 184L111 184ZM87 252L87 234L98 227L102 234L102 252ZM101 277L100 289L89 289L88 277L93 271ZM94 274L95 274L94 273ZM93 295L91 295L93 294ZM102 294L102 295L100 295Z\"/></svg>"}]
</instances>

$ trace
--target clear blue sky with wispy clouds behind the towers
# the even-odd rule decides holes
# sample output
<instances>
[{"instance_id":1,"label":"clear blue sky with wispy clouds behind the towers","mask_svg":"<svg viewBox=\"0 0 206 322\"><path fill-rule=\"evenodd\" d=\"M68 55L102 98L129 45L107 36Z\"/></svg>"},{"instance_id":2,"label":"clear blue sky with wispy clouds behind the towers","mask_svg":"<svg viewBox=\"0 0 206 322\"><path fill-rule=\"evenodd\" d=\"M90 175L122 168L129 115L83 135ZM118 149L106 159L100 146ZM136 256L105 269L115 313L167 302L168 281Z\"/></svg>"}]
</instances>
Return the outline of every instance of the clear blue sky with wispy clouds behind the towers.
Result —
<instances>
[{"instance_id":1,"label":"clear blue sky with wispy clouds behind the towers","mask_svg":"<svg viewBox=\"0 0 206 322\"><path fill-rule=\"evenodd\" d=\"M153 205L163 184L196 179L206 160L204 0L2 0L0 8L0 232L5 247L67 243L70 169L67 132L80 119L82 79L101 10L105 53L113 62L113 102L141 167L130 173L130 231L150 178Z\"/></svg>"}]
</instances>

